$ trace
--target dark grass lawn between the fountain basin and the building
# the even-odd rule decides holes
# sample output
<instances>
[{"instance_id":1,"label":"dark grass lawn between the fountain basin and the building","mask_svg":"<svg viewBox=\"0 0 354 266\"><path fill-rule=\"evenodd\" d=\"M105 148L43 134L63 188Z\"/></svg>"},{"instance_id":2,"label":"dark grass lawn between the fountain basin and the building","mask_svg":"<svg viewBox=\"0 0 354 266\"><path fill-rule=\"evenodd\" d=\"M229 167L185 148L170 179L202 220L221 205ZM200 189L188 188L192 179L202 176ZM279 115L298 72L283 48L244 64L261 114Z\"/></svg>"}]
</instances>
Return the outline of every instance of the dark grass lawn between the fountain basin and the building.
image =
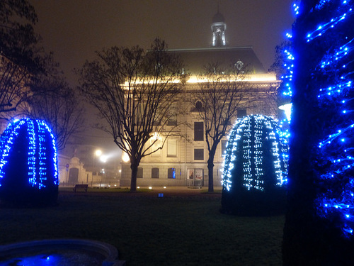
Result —
<instances>
[{"instance_id":1,"label":"dark grass lawn between the fountain basin and the building","mask_svg":"<svg viewBox=\"0 0 354 266\"><path fill-rule=\"evenodd\" d=\"M0 244L100 240L114 245L128 266L282 265L284 216L221 214L221 196L158 198L107 191L62 192L58 206L50 208L1 206Z\"/></svg>"}]
</instances>

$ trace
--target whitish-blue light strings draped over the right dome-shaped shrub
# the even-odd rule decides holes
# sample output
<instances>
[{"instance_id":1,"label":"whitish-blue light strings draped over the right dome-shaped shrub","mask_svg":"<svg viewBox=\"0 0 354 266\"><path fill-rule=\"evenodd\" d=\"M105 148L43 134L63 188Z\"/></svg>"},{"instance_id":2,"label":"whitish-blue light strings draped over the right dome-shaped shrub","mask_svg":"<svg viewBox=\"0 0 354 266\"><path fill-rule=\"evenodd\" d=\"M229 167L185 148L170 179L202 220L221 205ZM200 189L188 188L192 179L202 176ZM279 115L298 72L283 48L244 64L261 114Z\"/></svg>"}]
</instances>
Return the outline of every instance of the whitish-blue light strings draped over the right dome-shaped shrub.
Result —
<instances>
[{"instance_id":1,"label":"whitish-blue light strings draped over the right dome-shaped shrub","mask_svg":"<svg viewBox=\"0 0 354 266\"><path fill-rule=\"evenodd\" d=\"M268 140L267 140L268 139ZM265 141L270 141L271 157L277 179L276 186L287 182L287 140L280 136L280 128L273 118L261 115L246 116L239 119L230 132L227 145L222 185L228 192L232 189L235 163L241 159L243 183L246 190L264 191ZM239 150L241 149L241 153ZM239 155L241 158L237 157Z\"/></svg>"}]
</instances>

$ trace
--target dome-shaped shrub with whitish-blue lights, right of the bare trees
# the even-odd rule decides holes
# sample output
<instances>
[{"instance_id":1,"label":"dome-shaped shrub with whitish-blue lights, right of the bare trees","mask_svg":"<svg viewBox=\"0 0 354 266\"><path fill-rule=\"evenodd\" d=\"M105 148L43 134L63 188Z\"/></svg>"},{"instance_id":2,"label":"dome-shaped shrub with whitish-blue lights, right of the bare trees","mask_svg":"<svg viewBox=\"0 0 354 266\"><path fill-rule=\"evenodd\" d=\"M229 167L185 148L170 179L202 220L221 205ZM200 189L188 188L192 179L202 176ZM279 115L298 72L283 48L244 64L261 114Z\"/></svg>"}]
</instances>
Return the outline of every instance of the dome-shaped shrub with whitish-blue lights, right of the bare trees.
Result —
<instances>
[{"instance_id":1,"label":"dome-shaped shrub with whitish-blue lights, right of the bare trees","mask_svg":"<svg viewBox=\"0 0 354 266\"><path fill-rule=\"evenodd\" d=\"M287 142L268 116L239 120L229 135L222 177L222 212L263 215L283 211Z\"/></svg>"}]
</instances>

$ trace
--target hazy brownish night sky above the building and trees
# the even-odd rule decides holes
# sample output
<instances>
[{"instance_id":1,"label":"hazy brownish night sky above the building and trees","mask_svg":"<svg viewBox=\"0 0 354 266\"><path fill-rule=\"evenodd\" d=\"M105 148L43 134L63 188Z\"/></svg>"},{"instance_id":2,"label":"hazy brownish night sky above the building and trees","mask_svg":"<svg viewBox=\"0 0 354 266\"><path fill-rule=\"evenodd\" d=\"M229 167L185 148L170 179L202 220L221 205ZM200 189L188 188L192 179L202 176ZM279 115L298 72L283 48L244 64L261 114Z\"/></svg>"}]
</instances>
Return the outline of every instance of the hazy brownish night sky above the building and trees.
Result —
<instances>
[{"instance_id":1,"label":"hazy brownish night sky above the building and trees","mask_svg":"<svg viewBox=\"0 0 354 266\"><path fill-rule=\"evenodd\" d=\"M253 46L268 70L274 48L291 32L295 16L290 0L30 0L38 13L36 33L52 51L69 83L72 70L92 60L96 50L114 45L149 48L156 37L171 49L208 48L212 17L219 12L227 23L229 47ZM89 131L90 135L101 135ZM87 135L83 135L84 137ZM113 144L107 135L94 137ZM98 141L99 142L99 141ZM93 144L93 143L92 143ZM101 145L101 144L98 144Z\"/></svg>"}]
</instances>

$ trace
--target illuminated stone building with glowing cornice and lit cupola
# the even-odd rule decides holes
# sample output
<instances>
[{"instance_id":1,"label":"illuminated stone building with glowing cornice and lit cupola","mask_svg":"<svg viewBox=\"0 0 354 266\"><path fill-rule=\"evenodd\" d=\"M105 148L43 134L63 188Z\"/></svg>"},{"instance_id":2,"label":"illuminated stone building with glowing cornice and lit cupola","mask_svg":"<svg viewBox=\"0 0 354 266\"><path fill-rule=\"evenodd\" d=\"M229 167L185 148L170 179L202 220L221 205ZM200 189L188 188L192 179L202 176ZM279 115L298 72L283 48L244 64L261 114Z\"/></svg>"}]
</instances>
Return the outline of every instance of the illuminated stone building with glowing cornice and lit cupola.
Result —
<instances>
[{"instance_id":1,"label":"illuminated stone building with glowing cornice and lit cupola","mask_svg":"<svg viewBox=\"0 0 354 266\"><path fill-rule=\"evenodd\" d=\"M185 71L190 74L183 88L181 103L178 106L171 106L171 111L176 109L183 111L178 112L178 115L169 121L167 126L167 130L169 126L175 126L173 129L175 136L167 138L161 150L142 158L137 174L138 186L207 186L208 150L205 142L205 128L198 116L198 101L191 103L188 99L200 87L200 79L197 75L202 73L203 67L208 63L220 62L226 66L234 62L239 70L243 68L247 70L246 86L249 87L249 95L246 99L252 101L252 104L243 102L237 116L241 117L251 113L277 115L276 91L280 81L276 79L275 73L264 70L252 47L227 46L226 28L224 17L218 11L212 19L212 41L209 48L169 50L181 57L186 66ZM236 121L236 118L234 120ZM159 143L163 143L163 139L159 140ZM221 185L222 154L226 144L227 137L219 143L215 155L215 186ZM130 186L130 162L126 159L127 157L123 154L120 178L120 186L123 187Z\"/></svg>"}]
</instances>

